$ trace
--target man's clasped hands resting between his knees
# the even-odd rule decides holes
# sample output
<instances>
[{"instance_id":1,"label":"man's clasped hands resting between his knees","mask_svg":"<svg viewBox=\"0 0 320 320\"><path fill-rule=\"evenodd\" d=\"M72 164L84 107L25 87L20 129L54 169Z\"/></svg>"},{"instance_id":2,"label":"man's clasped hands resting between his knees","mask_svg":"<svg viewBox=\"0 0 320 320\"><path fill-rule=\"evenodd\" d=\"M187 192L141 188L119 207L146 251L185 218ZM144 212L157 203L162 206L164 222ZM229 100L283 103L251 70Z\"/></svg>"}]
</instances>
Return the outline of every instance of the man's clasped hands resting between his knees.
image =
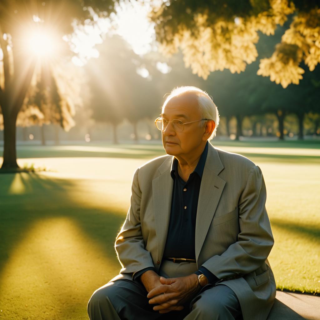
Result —
<instances>
[{"instance_id":1,"label":"man's clasped hands resting between his knees","mask_svg":"<svg viewBox=\"0 0 320 320\"><path fill-rule=\"evenodd\" d=\"M159 313L182 310L183 304L192 300L201 289L196 274L166 279L148 270L141 275L140 279L148 291L149 303L156 304L153 310Z\"/></svg>"}]
</instances>

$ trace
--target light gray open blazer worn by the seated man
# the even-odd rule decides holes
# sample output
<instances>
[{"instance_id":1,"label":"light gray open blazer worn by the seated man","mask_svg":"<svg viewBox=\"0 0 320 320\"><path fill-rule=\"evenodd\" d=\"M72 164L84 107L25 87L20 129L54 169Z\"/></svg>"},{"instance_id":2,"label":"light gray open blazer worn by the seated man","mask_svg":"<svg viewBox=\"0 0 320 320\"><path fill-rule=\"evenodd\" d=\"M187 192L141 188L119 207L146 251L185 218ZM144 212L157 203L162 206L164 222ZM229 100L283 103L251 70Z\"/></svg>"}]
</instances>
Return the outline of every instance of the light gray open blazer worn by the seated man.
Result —
<instances>
[{"instance_id":1,"label":"light gray open blazer worn by the seated man","mask_svg":"<svg viewBox=\"0 0 320 320\"><path fill-rule=\"evenodd\" d=\"M122 266L111 281L159 270L166 242L173 156L150 160L133 175L131 206L116 237ZM244 156L208 146L197 216L195 251L204 266L239 299L244 320L265 320L276 297L268 255L274 244L265 208L266 187L258 166Z\"/></svg>"}]
</instances>

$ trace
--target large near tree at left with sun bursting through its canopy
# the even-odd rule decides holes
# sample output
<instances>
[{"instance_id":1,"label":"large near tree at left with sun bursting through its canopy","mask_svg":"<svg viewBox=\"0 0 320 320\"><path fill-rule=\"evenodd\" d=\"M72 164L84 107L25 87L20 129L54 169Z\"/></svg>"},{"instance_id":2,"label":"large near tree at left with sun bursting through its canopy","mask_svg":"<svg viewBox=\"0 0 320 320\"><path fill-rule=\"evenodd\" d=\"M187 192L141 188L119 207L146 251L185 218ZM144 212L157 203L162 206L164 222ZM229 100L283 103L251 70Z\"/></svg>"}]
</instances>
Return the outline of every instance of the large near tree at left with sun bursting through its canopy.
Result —
<instances>
[{"instance_id":1,"label":"large near tree at left with sun bursting through its canopy","mask_svg":"<svg viewBox=\"0 0 320 320\"><path fill-rule=\"evenodd\" d=\"M18 168L16 120L30 86L36 64L41 61L39 56L26 50L27 45L30 46L30 41L34 41L35 35L40 35L40 30L41 32L47 30L48 33L54 30L51 36L55 38L55 47L60 48L59 52L54 53L54 57L56 60L65 57L68 55L68 47L66 42L62 40L62 36L73 31L72 22L76 19L76 23L79 24L85 19L93 20L94 15L105 16L107 15L106 10L110 12L113 9L113 4L112 0L1 1L0 47L3 55L4 77L4 80L0 81L0 106L4 122L2 168ZM43 33L42 36L45 39ZM48 48L46 44L39 45L38 43L36 49L39 53ZM71 115L68 108L64 107L61 106L61 114L64 115L61 125L68 126Z\"/></svg>"}]
</instances>

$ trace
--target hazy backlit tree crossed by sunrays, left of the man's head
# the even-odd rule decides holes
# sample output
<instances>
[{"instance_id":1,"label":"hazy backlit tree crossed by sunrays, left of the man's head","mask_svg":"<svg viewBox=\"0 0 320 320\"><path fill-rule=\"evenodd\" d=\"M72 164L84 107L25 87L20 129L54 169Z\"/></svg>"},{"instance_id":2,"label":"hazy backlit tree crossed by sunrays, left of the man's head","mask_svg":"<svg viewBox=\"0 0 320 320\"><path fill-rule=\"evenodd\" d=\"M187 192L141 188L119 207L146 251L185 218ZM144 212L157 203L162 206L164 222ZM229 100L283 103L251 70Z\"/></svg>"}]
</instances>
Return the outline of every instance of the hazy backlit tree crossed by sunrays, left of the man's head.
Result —
<instances>
[{"instance_id":1,"label":"hazy backlit tree crossed by sunrays, left of the man's head","mask_svg":"<svg viewBox=\"0 0 320 320\"><path fill-rule=\"evenodd\" d=\"M160 96L159 71L150 60L135 54L120 36L106 36L97 49L99 58L91 59L85 67L92 117L113 125L115 143L117 125L127 118L138 141L138 121L155 114L155 100Z\"/></svg>"}]
</instances>

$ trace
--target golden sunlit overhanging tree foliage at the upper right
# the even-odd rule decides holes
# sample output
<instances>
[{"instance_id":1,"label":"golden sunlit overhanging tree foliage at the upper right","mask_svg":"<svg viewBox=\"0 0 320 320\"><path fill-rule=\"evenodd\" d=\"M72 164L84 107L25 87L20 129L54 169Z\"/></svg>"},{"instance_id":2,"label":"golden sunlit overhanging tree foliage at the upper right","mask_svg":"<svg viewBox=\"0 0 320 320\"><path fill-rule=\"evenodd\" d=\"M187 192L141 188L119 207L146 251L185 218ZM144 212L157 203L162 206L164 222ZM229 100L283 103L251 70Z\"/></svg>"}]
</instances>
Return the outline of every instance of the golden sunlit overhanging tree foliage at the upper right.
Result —
<instances>
[{"instance_id":1,"label":"golden sunlit overhanging tree foliage at the upper right","mask_svg":"<svg viewBox=\"0 0 320 320\"><path fill-rule=\"evenodd\" d=\"M160 50L171 56L180 48L186 68L207 79L210 72L240 73L255 61L258 31L272 35L289 15L290 27L270 58L260 60L258 74L284 88L302 79L302 61L309 70L320 62L320 9L317 0L154 1L150 18L156 23Z\"/></svg>"}]
</instances>

